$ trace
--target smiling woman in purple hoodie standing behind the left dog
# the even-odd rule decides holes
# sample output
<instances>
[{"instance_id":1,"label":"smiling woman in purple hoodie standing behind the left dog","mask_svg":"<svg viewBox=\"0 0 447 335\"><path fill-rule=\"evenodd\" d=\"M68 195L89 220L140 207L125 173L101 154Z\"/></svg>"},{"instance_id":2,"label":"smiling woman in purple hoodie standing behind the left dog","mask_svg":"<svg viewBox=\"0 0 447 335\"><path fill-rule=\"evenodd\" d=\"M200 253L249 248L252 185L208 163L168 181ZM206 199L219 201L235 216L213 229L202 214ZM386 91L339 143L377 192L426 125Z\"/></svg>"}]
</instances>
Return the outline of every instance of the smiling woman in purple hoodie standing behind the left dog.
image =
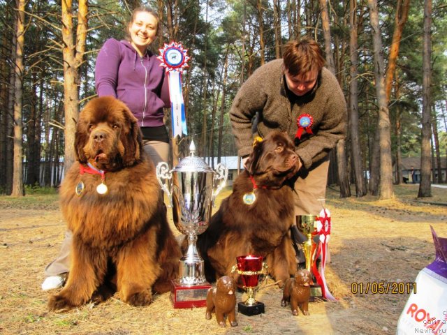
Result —
<instances>
[{"instance_id":1,"label":"smiling woman in purple hoodie standing behind the left dog","mask_svg":"<svg viewBox=\"0 0 447 335\"><path fill-rule=\"evenodd\" d=\"M151 8L133 10L127 27L129 40L105 41L96 58L98 96L114 96L126 103L138 119L145 151L154 164L169 161L169 137L163 107L170 107L168 78L159 59L147 47L157 38L159 16ZM56 260L45 267L43 290L64 285L70 267L71 232Z\"/></svg>"}]
</instances>

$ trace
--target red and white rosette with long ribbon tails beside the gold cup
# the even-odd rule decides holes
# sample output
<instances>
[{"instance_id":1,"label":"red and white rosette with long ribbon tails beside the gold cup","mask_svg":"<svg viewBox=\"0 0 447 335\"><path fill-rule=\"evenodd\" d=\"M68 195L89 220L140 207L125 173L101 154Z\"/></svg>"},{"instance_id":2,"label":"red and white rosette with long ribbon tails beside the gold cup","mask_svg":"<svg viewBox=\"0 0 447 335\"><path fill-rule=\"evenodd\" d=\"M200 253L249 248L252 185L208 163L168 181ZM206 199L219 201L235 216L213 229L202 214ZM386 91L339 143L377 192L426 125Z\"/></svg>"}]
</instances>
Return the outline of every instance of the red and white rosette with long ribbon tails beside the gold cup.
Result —
<instances>
[{"instance_id":1,"label":"red and white rosette with long ribbon tails beside the gold cup","mask_svg":"<svg viewBox=\"0 0 447 335\"><path fill-rule=\"evenodd\" d=\"M317 259L318 256L321 254L321 271L318 272L316 262L314 262L314 264L312 265L312 272L314 273L317 283L321 286L323 298L330 301L337 301L337 299L329 292L328 285L326 284L326 279L324 276L326 258L328 255L328 241L330 239L329 210L325 208L321 209L320 216L318 216L318 221L316 222L316 234L320 236L320 243L318 243L315 259Z\"/></svg>"}]
</instances>

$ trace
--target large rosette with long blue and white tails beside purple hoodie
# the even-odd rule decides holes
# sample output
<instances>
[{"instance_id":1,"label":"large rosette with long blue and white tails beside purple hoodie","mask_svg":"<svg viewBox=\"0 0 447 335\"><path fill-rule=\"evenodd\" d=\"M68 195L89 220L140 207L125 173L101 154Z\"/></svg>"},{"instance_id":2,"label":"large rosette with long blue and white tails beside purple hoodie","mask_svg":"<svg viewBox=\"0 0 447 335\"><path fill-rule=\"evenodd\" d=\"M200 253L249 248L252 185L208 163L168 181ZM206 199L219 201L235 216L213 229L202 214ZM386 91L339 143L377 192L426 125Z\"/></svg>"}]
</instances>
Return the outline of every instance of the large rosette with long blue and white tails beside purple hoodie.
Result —
<instances>
[{"instance_id":1,"label":"large rosette with long blue and white tails beside purple hoodie","mask_svg":"<svg viewBox=\"0 0 447 335\"><path fill-rule=\"evenodd\" d=\"M160 66L164 66L168 74L173 137L177 135L182 137L182 133L188 135L182 94L182 70L188 67L186 64L189 60L186 55L188 50L183 49L182 44L173 41L170 44L165 43L163 49L159 51L160 55L157 58L161 61Z\"/></svg>"}]
</instances>

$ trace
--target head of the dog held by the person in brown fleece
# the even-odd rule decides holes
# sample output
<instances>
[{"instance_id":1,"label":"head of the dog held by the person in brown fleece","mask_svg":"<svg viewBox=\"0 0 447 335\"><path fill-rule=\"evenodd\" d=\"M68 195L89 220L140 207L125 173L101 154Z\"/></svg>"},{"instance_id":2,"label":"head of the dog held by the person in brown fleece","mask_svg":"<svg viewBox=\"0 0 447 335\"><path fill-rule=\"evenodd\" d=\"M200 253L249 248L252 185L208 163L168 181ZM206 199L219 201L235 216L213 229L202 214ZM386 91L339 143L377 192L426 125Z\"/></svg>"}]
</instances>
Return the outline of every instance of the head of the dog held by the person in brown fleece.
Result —
<instances>
[{"instance_id":1,"label":"head of the dog held by the person in brown fleece","mask_svg":"<svg viewBox=\"0 0 447 335\"><path fill-rule=\"evenodd\" d=\"M286 133L272 131L264 140L255 141L245 166L264 185L281 186L298 172L298 155Z\"/></svg>"}]
</instances>

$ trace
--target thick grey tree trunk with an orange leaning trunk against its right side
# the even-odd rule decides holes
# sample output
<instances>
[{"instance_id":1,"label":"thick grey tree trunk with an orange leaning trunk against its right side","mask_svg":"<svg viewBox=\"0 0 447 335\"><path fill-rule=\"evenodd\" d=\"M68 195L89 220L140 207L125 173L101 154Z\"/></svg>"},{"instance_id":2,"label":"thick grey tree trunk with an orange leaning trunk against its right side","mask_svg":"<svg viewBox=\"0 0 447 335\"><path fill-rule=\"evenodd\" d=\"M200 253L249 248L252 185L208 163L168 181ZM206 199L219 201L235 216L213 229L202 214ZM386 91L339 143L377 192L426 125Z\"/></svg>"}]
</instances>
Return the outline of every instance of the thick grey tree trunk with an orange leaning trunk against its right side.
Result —
<instances>
[{"instance_id":1,"label":"thick grey tree trunk with an orange leaning trunk against its right side","mask_svg":"<svg viewBox=\"0 0 447 335\"><path fill-rule=\"evenodd\" d=\"M377 0L368 0L369 17L374 42L374 77L376 79L376 98L379 105L379 144L380 144L380 198L393 198L393 160L391 159L390 115L386 104L385 71L383 49L379 26Z\"/></svg>"}]
</instances>

